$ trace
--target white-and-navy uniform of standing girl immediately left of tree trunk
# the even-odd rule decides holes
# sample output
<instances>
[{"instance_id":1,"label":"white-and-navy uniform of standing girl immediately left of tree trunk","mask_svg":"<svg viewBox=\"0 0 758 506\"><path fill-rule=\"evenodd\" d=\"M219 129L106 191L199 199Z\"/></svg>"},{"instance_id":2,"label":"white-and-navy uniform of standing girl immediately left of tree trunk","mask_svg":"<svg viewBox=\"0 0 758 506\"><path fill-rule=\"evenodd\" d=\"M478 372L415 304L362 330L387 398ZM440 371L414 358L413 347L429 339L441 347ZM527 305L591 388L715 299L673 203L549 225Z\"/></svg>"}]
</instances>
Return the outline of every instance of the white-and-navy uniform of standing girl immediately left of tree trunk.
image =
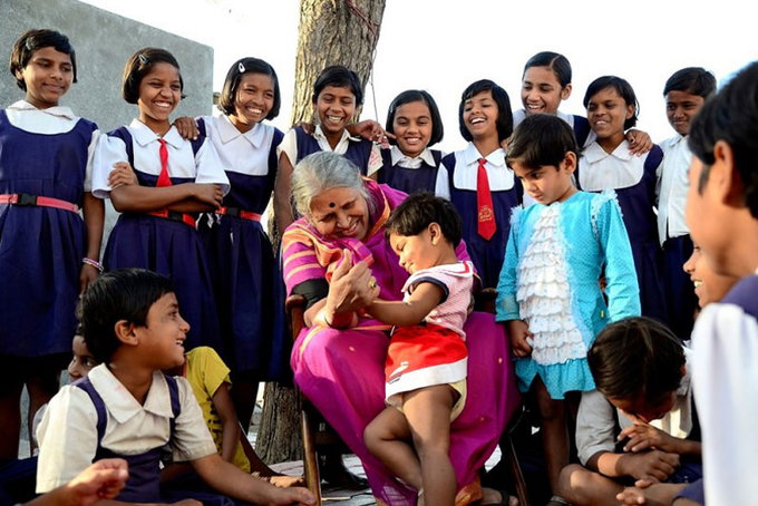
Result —
<instances>
[{"instance_id":1,"label":"white-and-navy uniform of standing girl immediately left of tree trunk","mask_svg":"<svg viewBox=\"0 0 758 506\"><path fill-rule=\"evenodd\" d=\"M242 134L226 116L202 117L197 124L231 185L222 210L208 213L200 226L221 322L223 350L217 351L235 373L281 380L289 374L290 343L283 291L278 290L281 271L261 214L273 192L283 134L262 123Z\"/></svg>"}]
</instances>

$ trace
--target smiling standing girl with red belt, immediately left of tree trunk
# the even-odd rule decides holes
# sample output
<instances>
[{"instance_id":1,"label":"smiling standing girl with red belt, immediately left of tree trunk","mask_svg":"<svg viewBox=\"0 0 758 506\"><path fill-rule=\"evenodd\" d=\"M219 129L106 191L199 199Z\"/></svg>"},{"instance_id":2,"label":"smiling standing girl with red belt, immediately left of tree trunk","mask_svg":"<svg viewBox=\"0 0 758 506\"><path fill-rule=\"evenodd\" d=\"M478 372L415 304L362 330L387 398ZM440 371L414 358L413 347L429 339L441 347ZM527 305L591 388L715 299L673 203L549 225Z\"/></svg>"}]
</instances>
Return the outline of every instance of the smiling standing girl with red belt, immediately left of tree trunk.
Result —
<instances>
[{"instance_id":1,"label":"smiling standing girl with red belt, immediately left of tree trunk","mask_svg":"<svg viewBox=\"0 0 758 506\"><path fill-rule=\"evenodd\" d=\"M283 137L263 120L275 118L280 104L273 67L242 58L226 74L218 100L223 115L197 118L231 185L210 225L201 221L201 234L211 264L222 354L231 366L232 397L243 427L250 425L259 382L283 379L289 372L281 272L261 225Z\"/></svg>"}]
</instances>

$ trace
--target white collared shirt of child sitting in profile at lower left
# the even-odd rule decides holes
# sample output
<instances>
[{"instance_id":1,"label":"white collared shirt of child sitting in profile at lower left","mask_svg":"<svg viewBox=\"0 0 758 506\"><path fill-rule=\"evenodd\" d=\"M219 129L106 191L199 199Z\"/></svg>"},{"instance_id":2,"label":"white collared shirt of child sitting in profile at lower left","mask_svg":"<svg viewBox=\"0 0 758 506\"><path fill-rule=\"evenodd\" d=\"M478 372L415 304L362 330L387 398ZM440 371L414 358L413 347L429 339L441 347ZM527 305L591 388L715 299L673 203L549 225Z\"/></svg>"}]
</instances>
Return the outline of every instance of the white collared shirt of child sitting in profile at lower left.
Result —
<instances>
[{"instance_id":1,"label":"white collared shirt of child sitting in profile at lower left","mask_svg":"<svg viewBox=\"0 0 758 506\"><path fill-rule=\"evenodd\" d=\"M139 455L163 446L171 438L168 385L161 371L153 373L153 385L140 405L105 366L89 371L89 380L106 408L107 424L101 446L118 455ZM174 460L186 461L216 453L192 387L176 378L182 412L176 418L171 448ZM87 468L97 450L97 411L89 395L67 385L50 399L37 430L39 461L37 493L65 485Z\"/></svg>"}]
</instances>

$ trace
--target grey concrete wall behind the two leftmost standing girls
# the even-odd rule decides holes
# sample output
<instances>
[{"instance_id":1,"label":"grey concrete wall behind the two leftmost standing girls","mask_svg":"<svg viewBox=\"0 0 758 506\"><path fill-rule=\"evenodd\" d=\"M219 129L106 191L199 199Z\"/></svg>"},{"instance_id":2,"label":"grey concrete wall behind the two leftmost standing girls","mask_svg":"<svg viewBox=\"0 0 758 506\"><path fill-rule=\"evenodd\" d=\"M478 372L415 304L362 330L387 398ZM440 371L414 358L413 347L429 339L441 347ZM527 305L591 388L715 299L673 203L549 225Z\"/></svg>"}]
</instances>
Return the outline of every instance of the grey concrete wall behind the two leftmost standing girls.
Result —
<instances>
[{"instance_id":1,"label":"grey concrete wall behind the two leftmost standing girls","mask_svg":"<svg viewBox=\"0 0 758 506\"><path fill-rule=\"evenodd\" d=\"M152 46L171 51L182 66L184 93L174 114L211 114L213 49L76 0L0 0L0 107L23 98L8 71L13 41L31 28L51 28L68 36L77 55L78 82L61 105L108 132L137 116L137 106L120 95L126 60Z\"/></svg>"}]
</instances>

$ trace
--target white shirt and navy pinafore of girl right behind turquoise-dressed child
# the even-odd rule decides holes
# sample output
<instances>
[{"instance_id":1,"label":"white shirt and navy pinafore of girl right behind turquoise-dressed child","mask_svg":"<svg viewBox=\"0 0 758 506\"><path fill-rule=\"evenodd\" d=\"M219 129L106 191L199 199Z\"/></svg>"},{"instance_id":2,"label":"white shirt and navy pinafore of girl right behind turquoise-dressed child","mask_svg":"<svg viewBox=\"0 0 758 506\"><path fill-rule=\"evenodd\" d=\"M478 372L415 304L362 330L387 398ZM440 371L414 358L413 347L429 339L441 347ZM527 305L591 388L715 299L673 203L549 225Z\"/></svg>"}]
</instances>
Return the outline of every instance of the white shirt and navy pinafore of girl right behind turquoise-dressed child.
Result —
<instances>
[{"instance_id":1,"label":"white shirt and navy pinafore of girl right behind turquoise-dressed child","mask_svg":"<svg viewBox=\"0 0 758 506\"><path fill-rule=\"evenodd\" d=\"M595 167L601 167L601 171L603 171L602 164L606 158L620 158L625 160L625 164L642 164L642 171L636 183L614 187L604 184L602 179L595 181L596 176L587 174L590 171L599 174L597 168L590 168L595 164L597 164ZM663 152L659 146L653 146L649 153L638 158L629 155L626 140L621 143L612 154L606 154L595 142L585 148L574 175L580 189L587 192L615 191L634 255L642 315L668 323L668 303L662 284L662 252L658 240L657 216L653 210L658 183L655 173L662 159Z\"/></svg>"}]
</instances>

